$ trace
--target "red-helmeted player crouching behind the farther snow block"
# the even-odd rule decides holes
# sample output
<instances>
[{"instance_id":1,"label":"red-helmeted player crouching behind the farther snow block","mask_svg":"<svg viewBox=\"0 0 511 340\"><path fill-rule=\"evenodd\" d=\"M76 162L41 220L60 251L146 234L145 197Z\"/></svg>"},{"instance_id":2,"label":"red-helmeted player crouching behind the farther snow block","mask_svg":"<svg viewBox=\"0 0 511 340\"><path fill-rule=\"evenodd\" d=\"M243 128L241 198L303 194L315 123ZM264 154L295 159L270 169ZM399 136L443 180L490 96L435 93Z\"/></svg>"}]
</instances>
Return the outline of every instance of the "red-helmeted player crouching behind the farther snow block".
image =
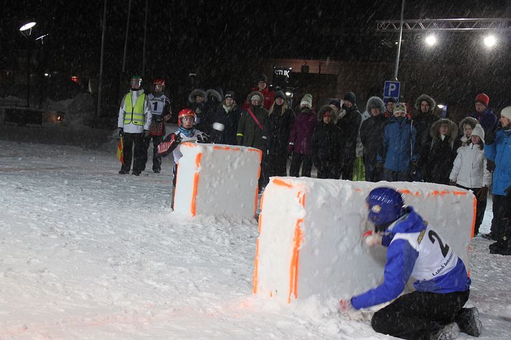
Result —
<instances>
[{"instance_id":1,"label":"red-helmeted player crouching behind the farther snow block","mask_svg":"<svg viewBox=\"0 0 511 340\"><path fill-rule=\"evenodd\" d=\"M197 115L192 109L182 109L177 116L177 125L179 125L179 129L167 135L163 142L158 144L158 155L166 156L172 153L174 157L171 194L172 209L174 209L174 190L177 176L177 165L179 164L179 159L183 157L183 154L179 150L179 144L182 142L208 143L208 135L195 129L194 124L196 119Z\"/></svg>"}]
</instances>

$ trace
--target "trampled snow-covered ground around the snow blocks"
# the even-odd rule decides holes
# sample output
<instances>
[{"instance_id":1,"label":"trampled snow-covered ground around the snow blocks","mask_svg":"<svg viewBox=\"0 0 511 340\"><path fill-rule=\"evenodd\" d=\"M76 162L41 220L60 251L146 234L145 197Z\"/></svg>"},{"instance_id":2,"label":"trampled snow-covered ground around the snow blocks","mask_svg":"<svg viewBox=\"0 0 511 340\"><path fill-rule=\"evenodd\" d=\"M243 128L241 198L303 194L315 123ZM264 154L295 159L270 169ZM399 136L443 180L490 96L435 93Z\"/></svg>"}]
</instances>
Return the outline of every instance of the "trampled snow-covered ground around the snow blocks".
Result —
<instances>
[{"instance_id":1,"label":"trampled snow-covered ground around the snow blocks","mask_svg":"<svg viewBox=\"0 0 511 340\"><path fill-rule=\"evenodd\" d=\"M162 168L119 175L114 148L0 141L1 340L391 338L336 300L253 296L257 222L173 213ZM482 231L491 217L488 202ZM469 303L480 339L511 339L511 257L488 244L471 243Z\"/></svg>"}]
</instances>

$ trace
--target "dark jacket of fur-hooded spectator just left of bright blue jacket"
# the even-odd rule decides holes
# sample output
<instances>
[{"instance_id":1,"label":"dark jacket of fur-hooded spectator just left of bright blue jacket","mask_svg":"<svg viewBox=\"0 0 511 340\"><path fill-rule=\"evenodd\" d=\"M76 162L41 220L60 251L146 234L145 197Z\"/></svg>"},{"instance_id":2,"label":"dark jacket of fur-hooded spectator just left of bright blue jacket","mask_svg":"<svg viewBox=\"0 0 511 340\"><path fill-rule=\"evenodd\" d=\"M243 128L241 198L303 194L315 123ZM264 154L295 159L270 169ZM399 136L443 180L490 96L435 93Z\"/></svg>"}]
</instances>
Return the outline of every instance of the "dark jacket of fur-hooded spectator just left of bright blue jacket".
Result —
<instances>
[{"instance_id":1,"label":"dark jacket of fur-hooded spectator just left of bright blue jacket","mask_svg":"<svg viewBox=\"0 0 511 340\"><path fill-rule=\"evenodd\" d=\"M378 116L367 118L362 122L362 127L360 127L360 140L364 146L364 157L370 159L373 163L376 161L379 148L383 145L383 136L387 123L388 119L382 113Z\"/></svg>"}]
</instances>

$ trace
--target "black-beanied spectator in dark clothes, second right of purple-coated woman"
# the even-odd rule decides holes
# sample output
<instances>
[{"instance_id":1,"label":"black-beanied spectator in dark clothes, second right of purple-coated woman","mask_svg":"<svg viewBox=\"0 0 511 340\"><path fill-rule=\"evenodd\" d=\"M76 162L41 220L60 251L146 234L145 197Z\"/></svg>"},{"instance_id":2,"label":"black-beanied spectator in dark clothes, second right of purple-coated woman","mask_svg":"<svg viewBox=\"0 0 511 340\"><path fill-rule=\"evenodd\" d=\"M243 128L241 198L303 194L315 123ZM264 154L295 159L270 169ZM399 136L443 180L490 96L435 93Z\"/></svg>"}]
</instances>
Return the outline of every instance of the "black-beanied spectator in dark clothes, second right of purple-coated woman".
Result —
<instances>
[{"instance_id":1,"label":"black-beanied spectator in dark clothes, second right of purple-coated woman","mask_svg":"<svg viewBox=\"0 0 511 340\"><path fill-rule=\"evenodd\" d=\"M341 131L340 167L337 178L351 181L356 159L358 131L362 122L362 115L358 111L356 96L353 92L345 94L342 109L345 113L341 111L336 122L336 126Z\"/></svg>"}]
</instances>

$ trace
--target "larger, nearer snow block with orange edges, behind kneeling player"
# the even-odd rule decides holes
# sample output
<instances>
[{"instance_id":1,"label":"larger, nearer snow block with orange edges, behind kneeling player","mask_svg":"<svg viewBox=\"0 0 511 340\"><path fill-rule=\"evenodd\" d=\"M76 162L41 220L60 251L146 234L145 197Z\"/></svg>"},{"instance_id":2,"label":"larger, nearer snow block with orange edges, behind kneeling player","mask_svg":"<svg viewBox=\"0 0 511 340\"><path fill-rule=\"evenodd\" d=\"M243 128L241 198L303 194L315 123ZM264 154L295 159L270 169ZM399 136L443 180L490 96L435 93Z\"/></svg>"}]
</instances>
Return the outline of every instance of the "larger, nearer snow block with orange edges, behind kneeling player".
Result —
<instances>
[{"instance_id":1,"label":"larger, nearer snow block with orange edges, behind kneeling player","mask_svg":"<svg viewBox=\"0 0 511 340\"><path fill-rule=\"evenodd\" d=\"M468 266L475 196L449 185L272 177L261 200L253 292L286 302L349 298L382 283L386 248L366 246L365 198L388 186L412 205Z\"/></svg>"}]
</instances>

